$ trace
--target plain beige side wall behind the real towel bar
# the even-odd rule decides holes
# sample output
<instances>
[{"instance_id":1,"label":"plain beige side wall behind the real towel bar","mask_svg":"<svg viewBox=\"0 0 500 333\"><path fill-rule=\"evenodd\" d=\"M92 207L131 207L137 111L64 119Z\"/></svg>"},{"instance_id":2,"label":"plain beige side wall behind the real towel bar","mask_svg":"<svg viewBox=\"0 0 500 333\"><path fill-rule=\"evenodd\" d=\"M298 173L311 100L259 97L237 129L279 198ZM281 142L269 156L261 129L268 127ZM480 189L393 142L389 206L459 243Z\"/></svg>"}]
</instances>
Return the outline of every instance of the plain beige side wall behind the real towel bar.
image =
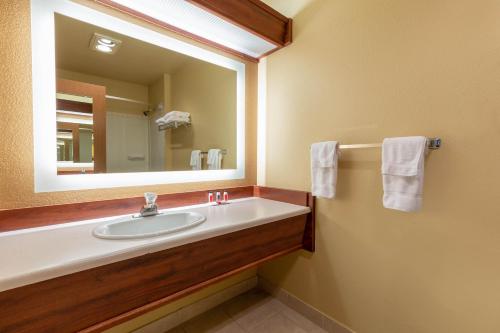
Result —
<instances>
[{"instance_id":1,"label":"plain beige side wall behind the real towel bar","mask_svg":"<svg viewBox=\"0 0 500 333\"><path fill-rule=\"evenodd\" d=\"M414 214L382 207L380 150L343 154L316 253L260 274L358 333L500 332L500 2L317 0L267 71L270 186L308 190L317 141L444 145Z\"/></svg>"}]
</instances>

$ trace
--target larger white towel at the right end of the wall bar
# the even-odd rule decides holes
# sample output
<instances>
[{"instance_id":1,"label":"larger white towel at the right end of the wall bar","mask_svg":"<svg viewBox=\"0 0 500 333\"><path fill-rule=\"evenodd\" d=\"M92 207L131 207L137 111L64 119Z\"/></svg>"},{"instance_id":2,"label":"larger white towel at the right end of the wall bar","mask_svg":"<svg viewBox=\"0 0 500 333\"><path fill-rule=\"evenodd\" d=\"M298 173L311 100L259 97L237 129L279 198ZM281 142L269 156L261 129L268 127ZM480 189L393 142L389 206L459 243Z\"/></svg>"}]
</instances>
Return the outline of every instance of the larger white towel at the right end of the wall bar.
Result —
<instances>
[{"instance_id":1,"label":"larger white towel at the right end of the wall bar","mask_svg":"<svg viewBox=\"0 0 500 333\"><path fill-rule=\"evenodd\" d=\"M412 212L422 207L426 150L427 139L423 136L384 139L382 179L385 208Z\"/></svg>"}]
</instances>

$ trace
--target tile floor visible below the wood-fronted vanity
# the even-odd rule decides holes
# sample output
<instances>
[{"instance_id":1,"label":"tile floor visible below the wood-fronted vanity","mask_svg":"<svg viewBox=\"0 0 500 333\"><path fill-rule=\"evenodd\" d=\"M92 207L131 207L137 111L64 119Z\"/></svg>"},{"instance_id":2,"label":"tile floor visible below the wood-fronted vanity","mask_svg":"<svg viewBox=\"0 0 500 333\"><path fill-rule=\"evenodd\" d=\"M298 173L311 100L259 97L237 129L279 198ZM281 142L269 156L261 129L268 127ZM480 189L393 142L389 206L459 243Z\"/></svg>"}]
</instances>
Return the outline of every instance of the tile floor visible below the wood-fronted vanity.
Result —
<instances>
[{"instance_id":1,"label":"tile floor visible below the wood-fronted vanity","mask_svg":"<svg viewBox=\"0 0 500 333\"><path fill-rule=\"evenodd\" d=\"M262 290L237 296L167 333L326 333Z\"/></svg>"}]
</instances>

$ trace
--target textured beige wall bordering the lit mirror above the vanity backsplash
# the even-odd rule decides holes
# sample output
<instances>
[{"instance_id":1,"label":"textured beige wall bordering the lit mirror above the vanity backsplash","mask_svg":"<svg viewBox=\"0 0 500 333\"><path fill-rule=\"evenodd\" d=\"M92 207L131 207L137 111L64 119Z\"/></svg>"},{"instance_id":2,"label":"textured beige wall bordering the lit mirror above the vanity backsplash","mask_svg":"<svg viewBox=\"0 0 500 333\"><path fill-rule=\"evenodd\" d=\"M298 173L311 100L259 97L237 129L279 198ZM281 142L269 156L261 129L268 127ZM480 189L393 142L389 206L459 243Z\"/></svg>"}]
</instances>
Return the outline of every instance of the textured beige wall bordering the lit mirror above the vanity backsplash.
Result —
<instances>
[{"instance_id":1,"label":"textured beige wall bordering the lit mirror above the vanity backsplash","mask_svg":"<svg viewBox=\"0 0 500 333\"><path fill-rule=\"evenodd\" d=\"M97 6L89 1L90 6ZM102 9L103 11L109 11ZM177 191L255 183L256 64L247 65L246 178L234 181L124 187L104 190L34 193L31 100L30 4L0 1L0 209L142 196L144 191ZM118 15L129 19L126 16ZM129 19L142 24L137 20ZM152 28L158 30L158 28ZM158 30L163 32L163 30ZM168 34L168 33L166 33ZM170 34L171 35L171 34ZM12 144L15 142L16 144ZM18 147L27 147L19 150Z\"/></svg>"}]
</instances>

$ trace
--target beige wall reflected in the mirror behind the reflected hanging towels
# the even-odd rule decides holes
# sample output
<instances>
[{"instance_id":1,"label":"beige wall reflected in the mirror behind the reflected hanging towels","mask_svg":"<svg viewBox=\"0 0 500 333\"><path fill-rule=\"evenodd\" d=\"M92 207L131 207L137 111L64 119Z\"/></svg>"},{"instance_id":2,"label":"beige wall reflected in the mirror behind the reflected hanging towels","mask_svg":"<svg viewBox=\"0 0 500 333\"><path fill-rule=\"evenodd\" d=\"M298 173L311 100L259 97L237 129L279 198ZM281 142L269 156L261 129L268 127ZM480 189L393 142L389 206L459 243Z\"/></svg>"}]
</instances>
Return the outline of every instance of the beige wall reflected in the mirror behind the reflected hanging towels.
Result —
<instances>
[{"instance_id":1,"label":"beige wall reflected in the mirror behind the reflected hanging towels","mask_svg":"<svg viewBox=\"0 0 500 333\"><path fill-rule=\"evenodd\" d=\"M172 110L189 112L191 127L172 130L173 170L189 170L191 151L227 150L222 168L236 168L236 72L189 62L172 75ZM206 158L203 159L203 169Z\"/></svg>"}]
</instances>

